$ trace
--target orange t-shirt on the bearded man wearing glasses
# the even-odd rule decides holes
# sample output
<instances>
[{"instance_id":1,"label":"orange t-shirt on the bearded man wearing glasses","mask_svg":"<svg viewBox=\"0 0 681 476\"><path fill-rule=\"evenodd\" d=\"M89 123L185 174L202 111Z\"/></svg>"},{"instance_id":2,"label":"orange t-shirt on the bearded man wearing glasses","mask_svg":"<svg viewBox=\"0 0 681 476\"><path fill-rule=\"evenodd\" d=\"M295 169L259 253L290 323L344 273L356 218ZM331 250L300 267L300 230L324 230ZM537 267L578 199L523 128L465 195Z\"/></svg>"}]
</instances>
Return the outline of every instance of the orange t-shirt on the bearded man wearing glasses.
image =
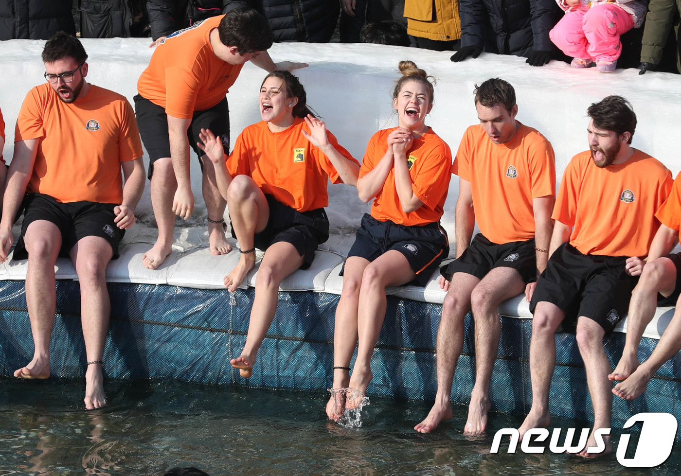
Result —
<instances>
[{"instance_id":1,"label":"orange t-shirt on the bearded man wearing glasses","mask_svg":"<svg viewBox=\"0 0 681 476\"><path fill-rule=\"evenodd\" d=\"M142 157L135 113L125 97L91 85L85 97L65 104L50 84L26 95L14 142L39 139L27 192L59 202L120 204L121 162Z\"/></svg>"}]
</instances>

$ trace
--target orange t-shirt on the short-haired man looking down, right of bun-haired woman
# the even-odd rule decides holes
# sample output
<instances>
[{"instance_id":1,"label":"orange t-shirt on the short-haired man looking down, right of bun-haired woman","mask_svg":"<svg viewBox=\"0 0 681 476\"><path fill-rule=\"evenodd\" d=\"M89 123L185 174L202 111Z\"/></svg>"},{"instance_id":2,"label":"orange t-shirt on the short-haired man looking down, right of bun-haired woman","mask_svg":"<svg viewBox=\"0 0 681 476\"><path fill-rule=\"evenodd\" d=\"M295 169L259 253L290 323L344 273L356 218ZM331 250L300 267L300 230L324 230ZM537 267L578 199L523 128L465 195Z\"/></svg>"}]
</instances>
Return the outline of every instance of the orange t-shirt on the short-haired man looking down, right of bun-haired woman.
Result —
<instances>
[{"instance_id":1,"label":"orange t-shirt on the short-haired man looking down, right of bun-haired woman","mask_svg":"<svg viewBox=\"0 0 681 476\"><path fill-rule=\"evenodd\" d=\"M556 195L551 142L521 123L505 144L494 144L481 125L466 129L452 174L471 183L477 225L496 244L535 238L532 200Z\"/></svg>"}]
</instances>

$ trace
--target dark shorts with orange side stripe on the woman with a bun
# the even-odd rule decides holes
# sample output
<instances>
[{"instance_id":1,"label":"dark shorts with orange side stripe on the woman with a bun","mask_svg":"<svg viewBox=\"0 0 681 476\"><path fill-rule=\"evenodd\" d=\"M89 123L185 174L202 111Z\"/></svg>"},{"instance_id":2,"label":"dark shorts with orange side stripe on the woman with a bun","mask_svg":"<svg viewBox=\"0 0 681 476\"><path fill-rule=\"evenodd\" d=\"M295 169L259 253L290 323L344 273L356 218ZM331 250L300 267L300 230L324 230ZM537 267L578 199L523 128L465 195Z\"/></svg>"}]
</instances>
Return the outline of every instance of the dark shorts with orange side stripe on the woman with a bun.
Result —
<instances>
[{"instance_id":1,"label":"dark shorts with orange side stripe on the woman with a bun","mask_svg":"<svg viewBox=\"0 0 681 476\"><path fill-rule=\"evenodd\" d=\"M413 282L425 286L433 270L449 255L449 239L440 223L399 225L390 220L378 221L365 213L347 257L359 256L373 261L392 249L409 261L409 267L416 274ZM340 270L340 276L343 276L343 270Z\"/></svg>"}]
</instances>

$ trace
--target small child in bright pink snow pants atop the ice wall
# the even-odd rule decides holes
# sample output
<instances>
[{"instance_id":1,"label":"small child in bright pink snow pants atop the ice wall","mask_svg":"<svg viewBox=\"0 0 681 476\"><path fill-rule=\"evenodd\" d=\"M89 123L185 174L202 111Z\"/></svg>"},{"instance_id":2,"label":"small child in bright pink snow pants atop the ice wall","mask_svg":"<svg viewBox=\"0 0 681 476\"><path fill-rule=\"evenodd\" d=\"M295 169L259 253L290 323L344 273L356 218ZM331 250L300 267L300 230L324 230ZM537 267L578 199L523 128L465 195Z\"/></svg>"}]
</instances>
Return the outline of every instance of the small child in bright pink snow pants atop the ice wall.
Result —
<instances>
[{"instance_id":1,"label":"small child in bright pink snow pants atop the ice wall","mask_svg":"<svg viewBox=\"0 0 681 476\"><path fill-rule=\"evenodd\" d=\"M556 0L565 10L549 33L551 41L573 57L573 67L614 71L622 53L620 35L643 23L647 0Z\"/></svg>"}]
</instances>

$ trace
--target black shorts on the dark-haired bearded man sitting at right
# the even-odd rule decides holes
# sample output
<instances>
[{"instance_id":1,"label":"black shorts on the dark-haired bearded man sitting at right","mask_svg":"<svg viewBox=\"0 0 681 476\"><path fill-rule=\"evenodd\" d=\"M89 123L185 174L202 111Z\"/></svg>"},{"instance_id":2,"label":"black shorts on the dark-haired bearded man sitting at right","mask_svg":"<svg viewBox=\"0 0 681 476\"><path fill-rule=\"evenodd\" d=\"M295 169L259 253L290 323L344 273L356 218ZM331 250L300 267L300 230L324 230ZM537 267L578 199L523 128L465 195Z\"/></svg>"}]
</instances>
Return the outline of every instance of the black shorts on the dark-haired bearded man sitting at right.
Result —
<instances>
[{"instance_id":1,"label":"black shorts on the dark-haired bearded man sitting at right","mask_svg":"<svg viewBox=\"0 0 681 476\"><path fill-rule=\"evenodd\" d=\"M638 278L624 270L627 256L582 255L569 243L556 249L537 282L530 302L547 301L565 311L567 321L588 317L609 332L629 311Z\"/></svg>"}]
</instances>

